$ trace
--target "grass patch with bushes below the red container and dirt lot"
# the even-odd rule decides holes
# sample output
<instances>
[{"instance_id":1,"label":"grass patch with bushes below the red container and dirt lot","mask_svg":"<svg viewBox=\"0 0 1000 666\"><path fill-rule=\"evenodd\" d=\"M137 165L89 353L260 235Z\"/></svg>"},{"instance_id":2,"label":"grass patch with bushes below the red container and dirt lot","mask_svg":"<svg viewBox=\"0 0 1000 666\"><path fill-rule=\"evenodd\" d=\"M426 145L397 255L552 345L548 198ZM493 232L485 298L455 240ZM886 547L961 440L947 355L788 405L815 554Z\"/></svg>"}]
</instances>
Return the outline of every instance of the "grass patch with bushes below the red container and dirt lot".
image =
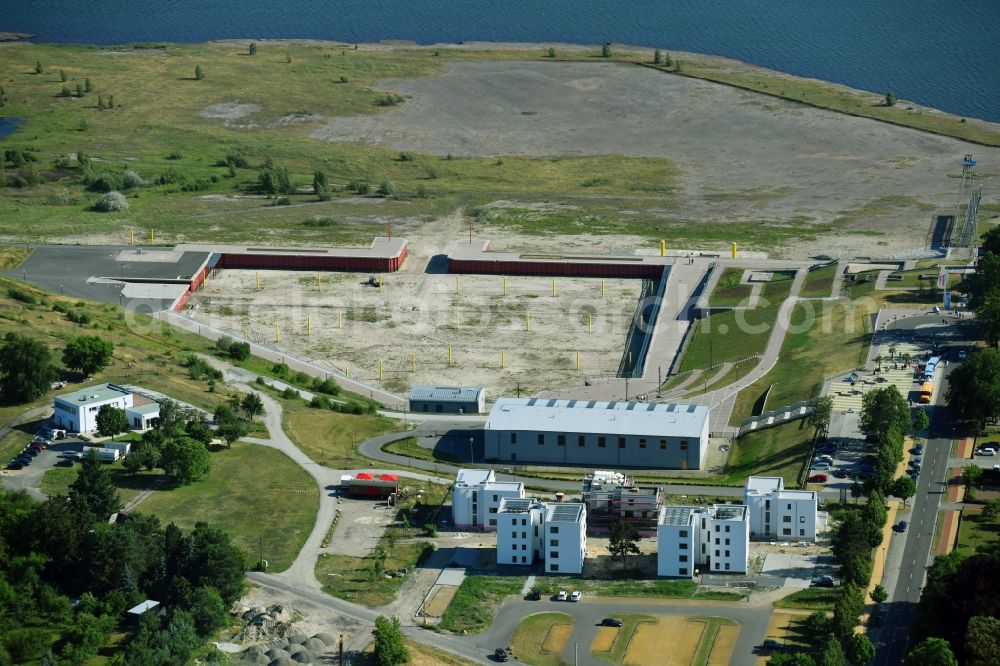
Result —
<instances>
[{"instance_id":1,"label":"grass patch with bushes below the red container and dirt lot","mask_svg":"<svg viewBox=\"0 0 1000 666\"><path fill-rule=\"evenodd\" d=\"M379 540L385 551L385 570L395 571L406 567L406 576L380 577L375 581L368 578L375 560L372 557L353 557L334 553L321 553L316 561L316 579L323 585L323 591L332 596L363 606L384 606L396 599L400 588L413 575L413 568L434 552L434 546L427 541L398 540L401 535L411 533L398 527L390 527Z\"/></svg>"}]
</instances>

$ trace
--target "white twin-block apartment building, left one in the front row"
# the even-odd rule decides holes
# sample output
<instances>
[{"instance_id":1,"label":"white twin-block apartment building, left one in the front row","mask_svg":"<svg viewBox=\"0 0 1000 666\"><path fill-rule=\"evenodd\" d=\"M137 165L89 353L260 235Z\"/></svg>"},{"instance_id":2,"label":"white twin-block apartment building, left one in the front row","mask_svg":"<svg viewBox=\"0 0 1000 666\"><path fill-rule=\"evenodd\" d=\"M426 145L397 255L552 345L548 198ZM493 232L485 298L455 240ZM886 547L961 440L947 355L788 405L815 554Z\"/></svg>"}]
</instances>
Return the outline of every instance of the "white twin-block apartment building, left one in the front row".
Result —
<instances>
[{"instance_id":1,"label":"white twin-block apartment building, left one in the front row","mask_svg":"<svg viewBox=\"0 0 1000 666\"><path fill-rule=\"evenodd\" d=\"M497 564L530 566L545 561L546 573L579 574L587 554L587 508L583 504L505 498L497 512Z\"/></svg>"}]
</instances>

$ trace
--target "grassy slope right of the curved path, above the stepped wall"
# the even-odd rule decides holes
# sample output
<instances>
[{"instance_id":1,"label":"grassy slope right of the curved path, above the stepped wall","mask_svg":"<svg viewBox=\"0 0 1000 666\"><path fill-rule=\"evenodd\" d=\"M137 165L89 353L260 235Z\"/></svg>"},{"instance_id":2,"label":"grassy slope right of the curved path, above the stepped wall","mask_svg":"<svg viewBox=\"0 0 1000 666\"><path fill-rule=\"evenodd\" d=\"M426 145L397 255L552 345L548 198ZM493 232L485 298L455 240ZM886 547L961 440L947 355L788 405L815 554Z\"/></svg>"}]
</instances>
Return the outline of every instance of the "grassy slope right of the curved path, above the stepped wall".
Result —
<instances>
[{"instance_id":1,"label":"grassy slope right of the curved path, above the stepped wall","mask_svg":"<svg viewBox=\"0 0 1000 666\"><path fill-rule=\"evenodd\" d=\"M824 377L862 363L871 337L865 319L879 305L865 297L870 289L869 285L868 290L835 302L798 303L792 311L778 364L740 392L730 423L737 424L750 416L754 402L768 386L771 393L765 410L814 397Z\"/></svg>"}]
</instances>

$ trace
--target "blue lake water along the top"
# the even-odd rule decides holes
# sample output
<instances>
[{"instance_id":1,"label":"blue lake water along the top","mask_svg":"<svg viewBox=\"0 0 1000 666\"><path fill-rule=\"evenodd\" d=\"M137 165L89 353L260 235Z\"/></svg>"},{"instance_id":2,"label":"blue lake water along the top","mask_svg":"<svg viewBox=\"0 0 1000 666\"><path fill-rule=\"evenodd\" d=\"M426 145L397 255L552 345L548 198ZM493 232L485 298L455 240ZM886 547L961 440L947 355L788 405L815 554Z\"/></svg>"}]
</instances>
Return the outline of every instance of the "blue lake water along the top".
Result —
<instances>
[{"instance_id":1,"label":"blue lake water along the top","mask_svg":"<svg viewBox=\"0 0 1000 666\"><path fill-rule=\"evenodd\" d=\"M1000 0L0 0L36 41L605 41L710 53L1000 122Z\"/></svg>"}]
</instances>

